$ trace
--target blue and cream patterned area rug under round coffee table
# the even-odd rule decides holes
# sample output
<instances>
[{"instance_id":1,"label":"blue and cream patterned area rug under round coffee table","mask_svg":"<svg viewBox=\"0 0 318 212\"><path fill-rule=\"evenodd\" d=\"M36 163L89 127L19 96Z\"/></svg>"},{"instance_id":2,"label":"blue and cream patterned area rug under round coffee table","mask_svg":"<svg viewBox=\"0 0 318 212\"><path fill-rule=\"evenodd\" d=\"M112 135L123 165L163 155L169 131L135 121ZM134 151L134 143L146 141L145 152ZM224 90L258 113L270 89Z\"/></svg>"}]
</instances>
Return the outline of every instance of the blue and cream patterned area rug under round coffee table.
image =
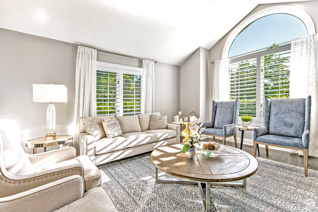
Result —
<instances>
[{"instance_id":1,"label":"blue and cream patterned area rug under round coffee table","mask_svg":"<svg viewBox=\"0 0 318 212\"><path fill-rule=\"evenodd\" d=\"M318 211L318 171L256 158L245 188L211 186L211 211ZM150 153L98 167L121 212L204 212L197 185L157 184ZM180 180L159 170L161 180ZM182 179L183 180L183 179Z\"/></svg>"}]
</instances>

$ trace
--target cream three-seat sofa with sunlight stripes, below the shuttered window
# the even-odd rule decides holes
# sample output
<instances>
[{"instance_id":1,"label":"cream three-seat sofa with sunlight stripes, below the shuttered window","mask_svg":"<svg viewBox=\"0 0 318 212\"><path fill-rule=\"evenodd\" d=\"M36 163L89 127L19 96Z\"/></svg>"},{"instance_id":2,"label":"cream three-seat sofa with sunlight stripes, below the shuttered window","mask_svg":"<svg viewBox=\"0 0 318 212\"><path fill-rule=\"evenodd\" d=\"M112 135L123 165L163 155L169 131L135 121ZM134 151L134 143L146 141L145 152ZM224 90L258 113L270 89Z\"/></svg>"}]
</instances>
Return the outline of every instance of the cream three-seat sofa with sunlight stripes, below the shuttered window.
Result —
<instances>
[{"instance_id":1,"label":"cream three-seat sofa with sunlight stripes, below the shuttered window","mask_svg":"<svg viewBox=\"0 0 318 212\"><path fill-rule=\"evenodd\" d=\"M160 116L160 113L154 113ZM83 122L91 122L104 117L90 116L79 118L79 147L80 154L85 154L96 164L104 164L137 154L153 151L171 143L180 142L180 126L168 124L167 129L150 130L151 113L134 116L115 116L121 126L122 135L114 138L95 140L86 133Z\"/></svg>"}]
</instances>

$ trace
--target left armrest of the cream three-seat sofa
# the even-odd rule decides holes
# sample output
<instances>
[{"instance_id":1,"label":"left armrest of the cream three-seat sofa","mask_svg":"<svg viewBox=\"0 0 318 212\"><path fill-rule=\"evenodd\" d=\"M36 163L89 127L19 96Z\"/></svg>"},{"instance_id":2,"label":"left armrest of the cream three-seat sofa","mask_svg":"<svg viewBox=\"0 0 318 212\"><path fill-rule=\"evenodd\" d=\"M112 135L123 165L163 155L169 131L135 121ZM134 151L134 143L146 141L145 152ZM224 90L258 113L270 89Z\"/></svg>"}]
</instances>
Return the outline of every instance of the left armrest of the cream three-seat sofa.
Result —
<instances>
[{"instance_id":1,"label":"left armrest of the cream three-seat sofa","mask_svg":"<svg viewBox=\"0 0 318 212\"><path fill-rule=\"evenodd\" d=\"M80 154L86 154L95 163L95 138L88 133L79 133Z\"/></svg>"}]
</instances>

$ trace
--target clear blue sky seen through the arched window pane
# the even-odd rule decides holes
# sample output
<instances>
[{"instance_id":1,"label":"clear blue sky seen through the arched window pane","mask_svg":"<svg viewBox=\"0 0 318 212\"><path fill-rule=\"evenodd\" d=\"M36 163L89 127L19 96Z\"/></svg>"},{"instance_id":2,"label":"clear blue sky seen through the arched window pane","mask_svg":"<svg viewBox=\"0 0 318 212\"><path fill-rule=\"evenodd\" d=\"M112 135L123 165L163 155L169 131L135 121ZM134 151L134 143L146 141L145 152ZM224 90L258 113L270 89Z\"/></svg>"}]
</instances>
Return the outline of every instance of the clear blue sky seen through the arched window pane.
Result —
<instances>
[{"instance_id":1,"label":"clear blue sky seen through the arched window pane","mask_svg":"<svg viewBox=\"0 0 318 212\"><path fill-rule=\"evenodd\" d=\"M229 58L307 35L305 24L288 14L268 15L254 21L233 41Z\"/></svg>"}]
</instances>

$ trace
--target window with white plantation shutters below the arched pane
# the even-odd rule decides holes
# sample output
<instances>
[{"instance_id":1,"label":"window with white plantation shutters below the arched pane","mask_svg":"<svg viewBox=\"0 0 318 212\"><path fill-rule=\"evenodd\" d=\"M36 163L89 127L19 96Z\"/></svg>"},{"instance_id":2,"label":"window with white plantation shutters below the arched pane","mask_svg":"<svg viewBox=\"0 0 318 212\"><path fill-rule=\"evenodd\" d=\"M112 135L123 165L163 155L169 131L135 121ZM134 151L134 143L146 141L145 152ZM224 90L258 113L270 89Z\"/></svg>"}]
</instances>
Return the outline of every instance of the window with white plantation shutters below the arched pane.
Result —
<instances>
[{"instance_id":1,"label":"window with white plantation shutters below the arched pane","mask_svg":"<svg viewBox=\"0 0 318 212\"><path fill-rule=\"evenodd\" d=\"M290 44L229 60L229 99L241 102L240 116L262 122L265 98L289 98L289 64Z\"/></svg>"}]
</instances>

